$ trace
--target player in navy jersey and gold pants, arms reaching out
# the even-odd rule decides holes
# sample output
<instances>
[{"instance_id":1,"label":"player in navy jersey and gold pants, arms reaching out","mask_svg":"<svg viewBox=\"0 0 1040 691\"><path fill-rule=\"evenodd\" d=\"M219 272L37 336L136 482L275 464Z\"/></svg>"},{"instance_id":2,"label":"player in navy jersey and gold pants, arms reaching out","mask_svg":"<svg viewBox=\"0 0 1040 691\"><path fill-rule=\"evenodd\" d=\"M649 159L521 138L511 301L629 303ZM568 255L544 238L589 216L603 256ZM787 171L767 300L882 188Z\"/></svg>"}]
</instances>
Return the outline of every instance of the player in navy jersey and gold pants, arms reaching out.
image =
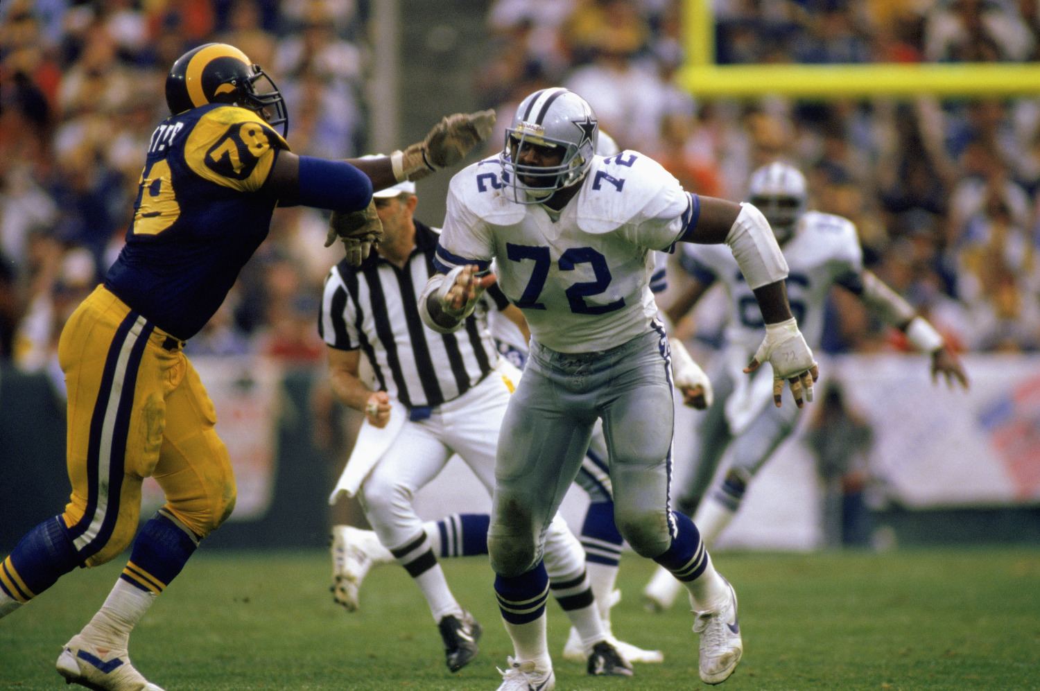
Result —
<instances>
[{"instance_id":1,"label":"player in navy jersey and gold pants, arms reaching out","mask_svg":"<svg viewBox=\"0 0 1040 691\"><path fill-rule=\"evenodd\" d=\"M213 404L183 347L266 237L275 207L332 210L327 246L339 237L360 264L382 234L373 187L460 161L494 123L492 111L454 114L375 160L296 156L282 95L226 44L182 55L166 77L166 103L172 114L149 143L126 245L61 333L69 503L0 562L3 617L75 567L133 543L104 605L57 660L68 682L95 689L159 688L130 664L130 631L234 508ZM146 477L166 502L137 531Z\"/></svg>"}]
</instances>

